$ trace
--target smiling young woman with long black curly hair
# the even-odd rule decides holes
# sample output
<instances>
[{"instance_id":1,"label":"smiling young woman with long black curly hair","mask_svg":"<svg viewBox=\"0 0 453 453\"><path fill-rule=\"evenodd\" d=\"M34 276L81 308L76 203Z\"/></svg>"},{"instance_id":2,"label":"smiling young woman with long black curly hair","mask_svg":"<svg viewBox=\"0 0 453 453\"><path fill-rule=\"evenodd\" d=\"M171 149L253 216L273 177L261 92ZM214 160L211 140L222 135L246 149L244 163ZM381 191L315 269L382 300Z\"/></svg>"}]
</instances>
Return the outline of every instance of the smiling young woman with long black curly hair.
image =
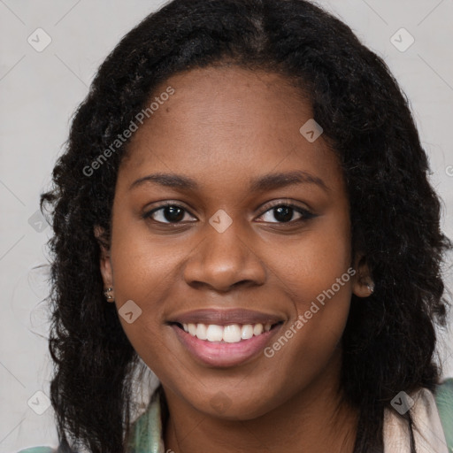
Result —
<instances>
[{"instance_id":1,"label":"smiling young woman with long black curly hair","mask_svg":"<svg viewBox=\"0 0 453 453\"><path fill-rule=\"evenodd\" d=\"M447 453L427 173L388 67L319 7L144 19L42 195L58 451ZM159 386L135 421L141 366Z\"/></svg>"}]
</instances>

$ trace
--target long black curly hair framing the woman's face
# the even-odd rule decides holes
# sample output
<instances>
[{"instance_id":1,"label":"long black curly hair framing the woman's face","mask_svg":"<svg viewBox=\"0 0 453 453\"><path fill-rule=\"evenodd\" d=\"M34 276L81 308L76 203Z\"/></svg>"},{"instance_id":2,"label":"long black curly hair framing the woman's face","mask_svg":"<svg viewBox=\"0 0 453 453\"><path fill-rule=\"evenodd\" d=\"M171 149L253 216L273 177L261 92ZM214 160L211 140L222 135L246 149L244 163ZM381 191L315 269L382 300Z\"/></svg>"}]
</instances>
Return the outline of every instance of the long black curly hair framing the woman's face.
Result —
<instances>
[{"instance_id":1,"label":"long black curly hair framing the woman's face","mask_svg":"<svg viewBox=\"0 0 453 453\"><path fill-rule=\"evenodd\" d=\"M54 231L50 396L61 451L126 451L140 365L114 304L105 303L99 269L128 141L96 172L86 169L158 84L226 62L294 81L342 162L351 247L365 254L375 282L366 303L352 296L342 338L342 388L360 411L355 453L382 451L383 410L399 391L434 391L438 383L434 325L445 325L441 263L451 242L441 233L441 203L408 101L388 66L342 21L305 0L173 0L100 66L53 187L41 196ZM94 226L104 228L100 242ZM410 412L405 417L411 426Z\"/></svg>"}]
</instances>

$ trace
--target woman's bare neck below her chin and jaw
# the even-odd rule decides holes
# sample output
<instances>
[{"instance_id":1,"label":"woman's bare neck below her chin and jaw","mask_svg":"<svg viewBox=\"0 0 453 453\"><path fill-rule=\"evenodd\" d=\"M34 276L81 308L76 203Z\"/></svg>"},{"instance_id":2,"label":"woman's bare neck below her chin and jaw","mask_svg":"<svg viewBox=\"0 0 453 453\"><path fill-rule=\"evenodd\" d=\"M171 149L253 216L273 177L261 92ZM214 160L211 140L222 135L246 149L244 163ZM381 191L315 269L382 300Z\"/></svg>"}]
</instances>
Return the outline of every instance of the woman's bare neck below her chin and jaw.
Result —
<instances>
[{"instance_id":1,"label":"woman's bare neck below her chin and jaw","mask_svg":"<svg viewBox=\"0 0 453 453\"><path fill-rule=\"evenodd\" d=\"M250 420L211 417L181 404L173 392L164 390L169 410L164 426L165 451L354 451L358 411L342 401L337 381L316 380L273 411Z\"/></svg>"}]
</instances>

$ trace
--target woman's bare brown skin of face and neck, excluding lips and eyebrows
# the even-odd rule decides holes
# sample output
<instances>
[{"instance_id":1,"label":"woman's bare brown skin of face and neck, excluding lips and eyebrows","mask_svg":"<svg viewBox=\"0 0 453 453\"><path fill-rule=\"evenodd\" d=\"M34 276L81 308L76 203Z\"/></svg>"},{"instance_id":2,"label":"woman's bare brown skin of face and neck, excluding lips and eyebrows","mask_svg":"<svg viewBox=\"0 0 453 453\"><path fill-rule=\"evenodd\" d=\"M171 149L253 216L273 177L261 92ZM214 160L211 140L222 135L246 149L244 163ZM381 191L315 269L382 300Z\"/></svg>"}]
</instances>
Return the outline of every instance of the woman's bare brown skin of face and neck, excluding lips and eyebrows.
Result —
<instances>
[{"instance_id":1,"label":"woman's bare brown skin of face and neck, excluding lips and eyebrows","mask_svg":"<svg viewBox=\"0 0 453 453\"><path fill-rule=\"evenodd\" d=\"M117 308L132 299L142 309L132 324L119 319L165 390L165 449L352 452L357 411L341 399L340 342L351 294L369 296L370 280L361 257L350 255L337 157L322 135L308 142L299 132L313 117L311 104L278 74L234 66L180 73L154 96L167 86L174 95L134 133L119 168L111 248L101 258ZM250 180L295 171L326 188L303 182L250 191ZM129 188L151 173L188 176L200 187ZM169 223L164 210L142 218L163 201L185 210L180 223ZM316 217L293 211L284 222L270 202L294 203ZM223 233L209 223L218 210L233 219ZM203 365L166 324L185 311L243 307L280 316L284 334L351 264L357 274L273 357Z\"/></svg>"}]
</instances>

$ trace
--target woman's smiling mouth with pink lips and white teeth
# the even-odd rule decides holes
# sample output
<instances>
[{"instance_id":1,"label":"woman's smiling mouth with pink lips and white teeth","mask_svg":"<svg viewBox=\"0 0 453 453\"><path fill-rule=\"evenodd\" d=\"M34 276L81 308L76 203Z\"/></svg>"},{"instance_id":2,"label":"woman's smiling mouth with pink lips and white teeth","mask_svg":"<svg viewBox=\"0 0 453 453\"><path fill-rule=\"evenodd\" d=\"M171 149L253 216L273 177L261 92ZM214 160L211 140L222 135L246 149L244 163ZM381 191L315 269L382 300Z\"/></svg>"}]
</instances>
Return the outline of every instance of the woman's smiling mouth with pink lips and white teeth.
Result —
<instances>
[{"instance_id":1,"label":"woman's smiling mouth with pink lips and white teeth","mask_svg":"<svg viewBox=\"0 0 453 453\"><path fill-rule=\"evenodd\" d=\"M284 322L275 315L231 309L190 311L166 324L197 363L231 367L257 358Z\"/></svg>"}]
</instances>

